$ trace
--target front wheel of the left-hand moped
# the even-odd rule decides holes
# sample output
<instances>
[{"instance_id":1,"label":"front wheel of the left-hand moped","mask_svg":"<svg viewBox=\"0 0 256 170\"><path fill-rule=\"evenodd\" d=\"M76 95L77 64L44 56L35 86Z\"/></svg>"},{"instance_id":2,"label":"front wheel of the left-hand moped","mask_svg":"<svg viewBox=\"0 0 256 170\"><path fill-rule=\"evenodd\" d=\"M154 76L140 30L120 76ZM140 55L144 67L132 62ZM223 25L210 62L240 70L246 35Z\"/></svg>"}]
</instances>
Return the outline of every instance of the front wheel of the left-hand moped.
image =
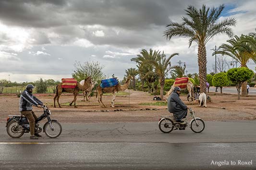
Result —
<instances>
[{"instance_id":1,"label":"front wheel of the left-hand moped","mask_svg":"<svg viewBox=\"0 0 256 170\"><path fill-rule=\"evenodd\" d=\"M61 124L56 120L52 120L51 125L53 126L53 129L50 127L49 122L47 122L44 125L45 135L50 137L50 138L56 138L56 137L60 136L61 132L62 132Z\"/></svg>"}]
</instances>

